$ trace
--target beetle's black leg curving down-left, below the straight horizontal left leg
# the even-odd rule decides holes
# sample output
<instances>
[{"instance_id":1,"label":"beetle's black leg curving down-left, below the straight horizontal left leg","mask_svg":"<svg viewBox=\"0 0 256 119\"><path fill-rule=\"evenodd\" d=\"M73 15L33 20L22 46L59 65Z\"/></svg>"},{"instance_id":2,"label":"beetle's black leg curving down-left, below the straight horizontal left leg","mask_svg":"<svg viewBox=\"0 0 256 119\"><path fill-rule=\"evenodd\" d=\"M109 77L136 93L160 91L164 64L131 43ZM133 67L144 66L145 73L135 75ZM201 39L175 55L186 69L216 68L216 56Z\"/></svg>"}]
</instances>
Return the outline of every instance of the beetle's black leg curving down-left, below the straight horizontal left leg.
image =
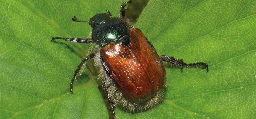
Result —
<instances>
[{"instance_id":1,"label":"beetle's black leg curving down-left, below the straight horizontal left leg","mask_svg":"<svg viewBox=\"0 0 256 119\"><path fill-rule=\"evenodd\" d=\"M75 70L75 74L71 80L71 83L70 83L70 92L73 93L73 82L74 82L74 79L76 79L76 75L81 71L81 69L85 66L86 62L90 59L90 58L93 58L95 56L95 53L92 53L88 56L85 57L85 59L82 60L82 62L78 65L78 68Z\"/></svg>"}]
</instances>

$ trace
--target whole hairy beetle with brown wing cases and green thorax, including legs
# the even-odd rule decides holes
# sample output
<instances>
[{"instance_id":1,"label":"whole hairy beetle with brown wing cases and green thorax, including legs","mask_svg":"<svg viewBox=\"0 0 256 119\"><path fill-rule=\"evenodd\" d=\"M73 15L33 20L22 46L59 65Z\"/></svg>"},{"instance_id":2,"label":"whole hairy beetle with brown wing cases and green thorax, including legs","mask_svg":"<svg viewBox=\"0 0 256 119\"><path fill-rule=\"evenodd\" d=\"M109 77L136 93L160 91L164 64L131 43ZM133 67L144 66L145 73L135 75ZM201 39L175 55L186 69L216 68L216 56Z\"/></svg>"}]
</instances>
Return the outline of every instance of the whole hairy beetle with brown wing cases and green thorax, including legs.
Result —
<instances>
[{"instance_id":1,"label":"whole hairy beetle with brown wing cases and green thorax, including legs","mask_svg":"<svg viewBox=\"0 0 256 119\"><path fill-rule=\"evenodd\" d=\"M121 4L120 16L112 17L107 13L96 14L88 22L92 27L91 38L53 37L51 41L62 39L78 43L94 43L95 52L86 56L75 70L70 83L73 93L74 79L84 68L89 59L94 59L99 69L99 85L105 90L113 119L115 119L115 104L130 113L142 112L161 103L165 94L166 72L162 61L184 66L206 68L203 62L185 63L182 59L158 55L150 41L142 31L134 28L124 18L124 8L131 1Z\"/></svg>"}]
</instances>

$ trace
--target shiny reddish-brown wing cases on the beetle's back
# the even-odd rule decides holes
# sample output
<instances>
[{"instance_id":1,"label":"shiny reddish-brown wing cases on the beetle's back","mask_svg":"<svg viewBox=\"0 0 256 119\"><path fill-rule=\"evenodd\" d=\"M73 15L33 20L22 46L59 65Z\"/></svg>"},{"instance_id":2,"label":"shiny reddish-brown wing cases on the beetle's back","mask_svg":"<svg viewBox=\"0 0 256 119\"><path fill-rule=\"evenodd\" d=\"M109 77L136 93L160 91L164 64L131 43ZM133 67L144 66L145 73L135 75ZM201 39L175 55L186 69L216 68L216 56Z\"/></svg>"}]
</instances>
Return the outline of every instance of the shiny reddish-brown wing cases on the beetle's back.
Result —
<instances>
[{"instance_id":1,"label":"shiny reddish-brown wing cases on the beetle's back","mask_svg":"<svg viewBox=\"0 0 256 119\"><path fill-rule=\"evenodd\" d=\"M129 45L105 45L101 59L123 96L131 103L145 103L164 88L166 73L159 55L139 29L131 29L129 37Z\"/></svg>"}]
</instances>

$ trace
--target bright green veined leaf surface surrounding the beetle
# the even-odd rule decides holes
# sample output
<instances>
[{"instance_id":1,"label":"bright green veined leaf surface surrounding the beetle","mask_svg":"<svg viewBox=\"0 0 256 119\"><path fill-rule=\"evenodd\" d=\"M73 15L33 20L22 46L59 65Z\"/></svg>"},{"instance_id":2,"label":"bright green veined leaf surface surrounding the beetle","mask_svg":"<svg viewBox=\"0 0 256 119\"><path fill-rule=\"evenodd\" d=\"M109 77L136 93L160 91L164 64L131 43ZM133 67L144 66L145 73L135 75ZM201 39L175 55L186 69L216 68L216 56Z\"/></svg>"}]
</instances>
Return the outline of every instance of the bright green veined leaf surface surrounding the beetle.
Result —
<instances>
[{"instance_id":1,"label":"bright green veined leaf surface surrounding the beetle","mask_svg":"<svg viewBox=\"0 0 256 119\"><path fill-rule=\"evenodd\" d=\"M123 1L0 1L0 118L108 118L96 83L97 69L87 64L83 77L70 79L87 44L53 36L89 37L88 23L108 9L118 16ZM167 92L154 109L117 118L256 118L256 2L157 1L144 8L136 27L160 55L200 68L167 67Z\"/></svg>"}]
</instances>

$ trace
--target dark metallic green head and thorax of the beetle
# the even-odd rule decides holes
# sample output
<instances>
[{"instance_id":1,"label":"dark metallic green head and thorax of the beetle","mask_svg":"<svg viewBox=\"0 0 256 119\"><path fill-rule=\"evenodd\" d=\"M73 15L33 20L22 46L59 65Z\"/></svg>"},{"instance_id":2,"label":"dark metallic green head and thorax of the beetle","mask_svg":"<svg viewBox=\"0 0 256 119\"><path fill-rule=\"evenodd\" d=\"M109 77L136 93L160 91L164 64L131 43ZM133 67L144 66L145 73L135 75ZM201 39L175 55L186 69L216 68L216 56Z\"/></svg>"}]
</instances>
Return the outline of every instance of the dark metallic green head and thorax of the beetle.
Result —
<instances>
[{"instance_id":1,"label":"dark metallic green head and thorax of the beetle","mask_svg":"<svg viewBox=\"0 0 256 119\"><path fill-rule=\"evenodd\" d=\"M111 17L108 14L97 14L92 21L92 40L103 47L128 34L132 26L123 18Z\"/></svg>"}]
</instances>

